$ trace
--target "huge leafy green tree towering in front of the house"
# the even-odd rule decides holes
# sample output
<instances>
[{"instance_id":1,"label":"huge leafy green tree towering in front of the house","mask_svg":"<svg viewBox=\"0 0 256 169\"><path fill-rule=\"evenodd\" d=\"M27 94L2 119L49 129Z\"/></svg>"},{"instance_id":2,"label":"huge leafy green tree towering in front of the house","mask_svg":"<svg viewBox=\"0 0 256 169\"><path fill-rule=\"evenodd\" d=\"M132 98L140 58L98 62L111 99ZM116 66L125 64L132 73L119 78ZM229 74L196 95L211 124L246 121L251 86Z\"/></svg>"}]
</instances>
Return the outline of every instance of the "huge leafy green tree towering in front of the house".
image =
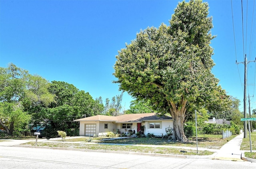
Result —
<instances>
[{"instance_id":1,"label":"huge leafy green tree towering in front of the house","mask_svg":"<svg viewBox=\"0 0 256 169\"><path fill-rule=\"evenodd\" d=\"M227 103L226 92L211 72L212 27L207 3L183 1L170 26L140 31L116 56L114 82L134 98L150 100L157 112L170 113L173 139L187 140L184 122L195 108L220 109Z\"/></svg>"}]
</instances>

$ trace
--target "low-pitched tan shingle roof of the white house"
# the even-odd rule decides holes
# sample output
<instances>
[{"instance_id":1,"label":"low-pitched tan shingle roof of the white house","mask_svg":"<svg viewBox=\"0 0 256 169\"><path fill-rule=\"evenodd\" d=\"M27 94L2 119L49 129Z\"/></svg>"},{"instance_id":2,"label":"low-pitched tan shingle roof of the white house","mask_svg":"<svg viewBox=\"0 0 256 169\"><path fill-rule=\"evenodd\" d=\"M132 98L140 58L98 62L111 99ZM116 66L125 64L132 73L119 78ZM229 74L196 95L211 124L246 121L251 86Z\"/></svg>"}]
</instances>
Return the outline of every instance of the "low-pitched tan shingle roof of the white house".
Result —
<instances>
[{"instance_id":1,"label":"low-pitched tan shingle roof of the white house","mask_svg":"<svg viewBox=\"0 0 256 169\"><path fill-rule=\"evenodd\" d=\"M151 121L151 120L172 120L170 116L158 116L155 113L141 113L141 114L123 114L120 116L104 116L97 115L86 118L80 118L74 120L75 122L80 121L112 121L112 122L142 122L142 121Z\"/></svg>"}]
</instances>

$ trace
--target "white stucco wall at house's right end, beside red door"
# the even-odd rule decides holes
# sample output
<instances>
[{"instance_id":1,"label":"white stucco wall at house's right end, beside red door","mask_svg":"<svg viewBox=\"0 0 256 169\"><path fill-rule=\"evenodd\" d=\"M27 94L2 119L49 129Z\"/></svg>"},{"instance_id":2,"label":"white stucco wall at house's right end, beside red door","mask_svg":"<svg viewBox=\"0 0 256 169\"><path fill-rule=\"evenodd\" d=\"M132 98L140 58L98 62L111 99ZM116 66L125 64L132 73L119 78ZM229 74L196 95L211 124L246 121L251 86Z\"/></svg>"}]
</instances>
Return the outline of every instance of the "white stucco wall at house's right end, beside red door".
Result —
<instances>
[{"instance_id":1,"label":"white stucco wall at house's right end, beside red door","mask_svg":"<svg viewBox=\"0 0 256 169\"><path fill-rule=\"evenodd\" d=\"M166 135L166 128L171 127L173 128L173 123L172 120L164 120L164 121L160 121L162 122L161 128L149 128L149 123L151 121L146 121L144 122L144 126L145 126L145 130L144 130L144 134L147 136L148 133L150 134L154 134L155 136L162 136ZM159 121L154 121L154 122L159 122Z\"/></svg>"}]
</instances>

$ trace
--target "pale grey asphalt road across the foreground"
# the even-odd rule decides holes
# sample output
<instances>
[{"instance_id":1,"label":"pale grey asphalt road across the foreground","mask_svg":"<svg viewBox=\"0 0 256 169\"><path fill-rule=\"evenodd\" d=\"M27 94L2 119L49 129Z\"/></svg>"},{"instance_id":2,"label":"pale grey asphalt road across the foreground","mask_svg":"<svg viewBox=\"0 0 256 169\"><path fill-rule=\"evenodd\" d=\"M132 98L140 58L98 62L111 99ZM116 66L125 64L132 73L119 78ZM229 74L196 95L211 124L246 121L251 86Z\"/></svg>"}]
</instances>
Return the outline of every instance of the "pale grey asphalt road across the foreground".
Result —
<instances>
[{"instance_id":1,"label":"pale grey asphalt road across the foreground","mask_svg":"<svg viewBox=\"0 0 256 169\"><path fill-rule=\"evenodd\" d=\"M0 146L0 169L255 169L256 163Z\"/></svg>"}]
</instances>

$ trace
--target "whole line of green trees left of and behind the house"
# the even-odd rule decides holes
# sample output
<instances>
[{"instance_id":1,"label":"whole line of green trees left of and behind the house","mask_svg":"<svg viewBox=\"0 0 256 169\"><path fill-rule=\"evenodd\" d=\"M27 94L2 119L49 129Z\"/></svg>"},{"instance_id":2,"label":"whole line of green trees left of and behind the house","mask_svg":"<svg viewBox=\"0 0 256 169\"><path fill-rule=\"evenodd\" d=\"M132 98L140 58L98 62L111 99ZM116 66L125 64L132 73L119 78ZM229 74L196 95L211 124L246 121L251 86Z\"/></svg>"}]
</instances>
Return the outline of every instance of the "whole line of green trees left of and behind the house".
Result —
<instances>
[{"instance_id":1,"label":"whole line of green trees left of and behind the house","mask_svg":"<svg viewBox=\"0 0 256 169\"><path fill-rule=\"evenodd\" d=\"M13 63L0 67L0 126L9 135L18 135L28 124L50 123L56 131L78 129L75 119L122 114L121 102L122 94L106 98L104 105L101 96L93 99L72 84L50 83Z\"/></svg>"}]
</instances>

